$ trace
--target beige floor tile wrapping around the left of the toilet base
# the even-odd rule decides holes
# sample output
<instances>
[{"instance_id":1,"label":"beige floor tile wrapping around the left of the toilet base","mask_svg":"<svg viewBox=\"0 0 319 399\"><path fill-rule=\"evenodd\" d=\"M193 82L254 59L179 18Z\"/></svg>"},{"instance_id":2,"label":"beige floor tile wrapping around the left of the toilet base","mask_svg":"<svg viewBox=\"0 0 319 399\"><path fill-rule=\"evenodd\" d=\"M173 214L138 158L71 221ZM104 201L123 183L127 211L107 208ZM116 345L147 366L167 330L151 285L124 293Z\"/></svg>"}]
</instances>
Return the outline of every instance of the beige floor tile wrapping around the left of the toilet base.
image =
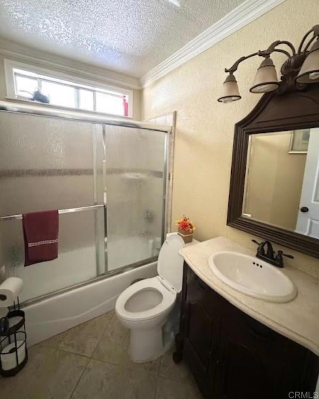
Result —
<instances>
[{"instance_id":1,"label":"beige floor tile wrapping around the left of the toilet base","mask_svg":"<svg viewBox=\"0 0 319 399\"><path fill-rule=\"evenodd\" d=\"M147 363L134 363L128 352L130 330L123 327L116 315L105 330L92 357L104 362L110 362L128 367L130 369L142 369L149 373L158 374L160 358Z\"/></svg>"}]
</instances>

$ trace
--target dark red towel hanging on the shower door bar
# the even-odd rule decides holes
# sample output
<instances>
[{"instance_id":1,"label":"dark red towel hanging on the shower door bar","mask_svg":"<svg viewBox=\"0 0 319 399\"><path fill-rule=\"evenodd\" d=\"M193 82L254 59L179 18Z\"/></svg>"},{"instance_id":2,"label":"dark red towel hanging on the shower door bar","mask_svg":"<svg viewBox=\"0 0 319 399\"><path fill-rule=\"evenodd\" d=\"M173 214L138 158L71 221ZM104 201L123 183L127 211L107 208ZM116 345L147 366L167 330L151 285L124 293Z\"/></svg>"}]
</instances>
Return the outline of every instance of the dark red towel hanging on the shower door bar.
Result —
<instances>
[{"instance_id":1,"label":"dark red towel hanging on the shower door bar","mask_svg":"<svg viewBox=\"0 0 319 399\"><path fill-rule=\"evenodd\" d=\"M58 211L22 215L24 266L52 261L58 257Z\"/></svg>"}]
</instances>

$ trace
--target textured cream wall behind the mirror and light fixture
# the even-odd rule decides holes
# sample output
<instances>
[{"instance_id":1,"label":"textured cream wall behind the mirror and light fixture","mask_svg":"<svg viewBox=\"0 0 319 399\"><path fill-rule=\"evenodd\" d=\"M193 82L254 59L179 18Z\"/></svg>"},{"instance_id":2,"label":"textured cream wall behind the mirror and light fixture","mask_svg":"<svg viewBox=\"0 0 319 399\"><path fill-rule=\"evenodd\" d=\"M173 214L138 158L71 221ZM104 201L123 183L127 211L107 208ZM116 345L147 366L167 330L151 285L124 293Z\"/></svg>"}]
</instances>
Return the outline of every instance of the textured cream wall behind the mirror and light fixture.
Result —
<instances>
[{"instance_id":1,"label":"textured cream wall behind the mirror and light fixture","mask_svg":"<svg viewBox=\"0 0 319 399\"><path fill-rule=\"evenodd\" d=\"M248 89L261 60L253 58L240 65L236 76L243 98L228 105L216 101L226 77L224 68L277 39L298 45L318 21L318 0L287 0L145 88L144 119L177 111L172 220L189 216L198 226L197 239L221 235L255 247L251 235L226 226L226 216L234 124L260 98ZM285 56L275 54L273 59L278 66ZM295 260L285 262L319 276L319 260L286 251Z\"/></svg>"}]
</instances>

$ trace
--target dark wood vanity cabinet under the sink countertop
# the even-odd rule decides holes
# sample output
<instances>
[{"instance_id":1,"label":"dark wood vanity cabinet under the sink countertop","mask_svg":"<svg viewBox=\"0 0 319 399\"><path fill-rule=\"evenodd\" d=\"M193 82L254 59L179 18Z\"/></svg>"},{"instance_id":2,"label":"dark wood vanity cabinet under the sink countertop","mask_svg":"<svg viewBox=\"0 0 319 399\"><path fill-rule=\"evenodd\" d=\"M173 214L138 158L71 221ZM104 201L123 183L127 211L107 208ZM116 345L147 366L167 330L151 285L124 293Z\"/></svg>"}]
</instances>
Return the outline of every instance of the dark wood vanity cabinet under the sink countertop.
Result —
<instances>
[{"instance_id":1,"label":"dark wood vanity cabinet under the sink countertop","mask_svg":"<svg viewBox=\"0 0 319 399\"><path fill-rule=\"evenodd\" d=\"M319 359L230 304L184 264L182 358L207 399L284 399L314 392Z\"/></svg>"}]
</instances>

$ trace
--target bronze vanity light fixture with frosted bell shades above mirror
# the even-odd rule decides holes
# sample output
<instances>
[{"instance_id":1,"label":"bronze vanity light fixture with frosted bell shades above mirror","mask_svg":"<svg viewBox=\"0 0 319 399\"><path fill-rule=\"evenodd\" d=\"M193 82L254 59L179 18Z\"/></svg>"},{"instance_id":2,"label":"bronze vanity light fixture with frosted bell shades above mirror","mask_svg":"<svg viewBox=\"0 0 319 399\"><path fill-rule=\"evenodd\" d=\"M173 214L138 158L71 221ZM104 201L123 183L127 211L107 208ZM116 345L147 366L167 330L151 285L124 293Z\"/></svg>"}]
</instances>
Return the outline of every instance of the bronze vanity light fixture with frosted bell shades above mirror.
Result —
<instances>
[{"instance_id":1,"label":"bronze vanity light fixture with frosted bell shades above mirror","mask_svg":"<svg viewBox=\"0 0 319 399\"><path fill-rule=\"evenodd\" d=\"M312 37L309 38L311 34ZM309 40L306 43L307 39ZM290 52L277 48L283 44L289 47ZM278 80L276 67L270 58L270 55L274 52L283 53L288 58L281 67L281 80ZM283 94L287 90L303 90L307 87L307 84L319 83L319 25L315 25L305 34L297 51L291 42L277 40L266 50L259 50L256 53L241 57L232 67L225 68L225 72L229 75L223 83L222 95L217 101L230 103L241 99L234 72L237 71L241 62L255 56L263 57L264 60L256 72L252 87L249 89L251 93L268 93L277 90L278 94Z\"/></svg>"}]
</instances>

